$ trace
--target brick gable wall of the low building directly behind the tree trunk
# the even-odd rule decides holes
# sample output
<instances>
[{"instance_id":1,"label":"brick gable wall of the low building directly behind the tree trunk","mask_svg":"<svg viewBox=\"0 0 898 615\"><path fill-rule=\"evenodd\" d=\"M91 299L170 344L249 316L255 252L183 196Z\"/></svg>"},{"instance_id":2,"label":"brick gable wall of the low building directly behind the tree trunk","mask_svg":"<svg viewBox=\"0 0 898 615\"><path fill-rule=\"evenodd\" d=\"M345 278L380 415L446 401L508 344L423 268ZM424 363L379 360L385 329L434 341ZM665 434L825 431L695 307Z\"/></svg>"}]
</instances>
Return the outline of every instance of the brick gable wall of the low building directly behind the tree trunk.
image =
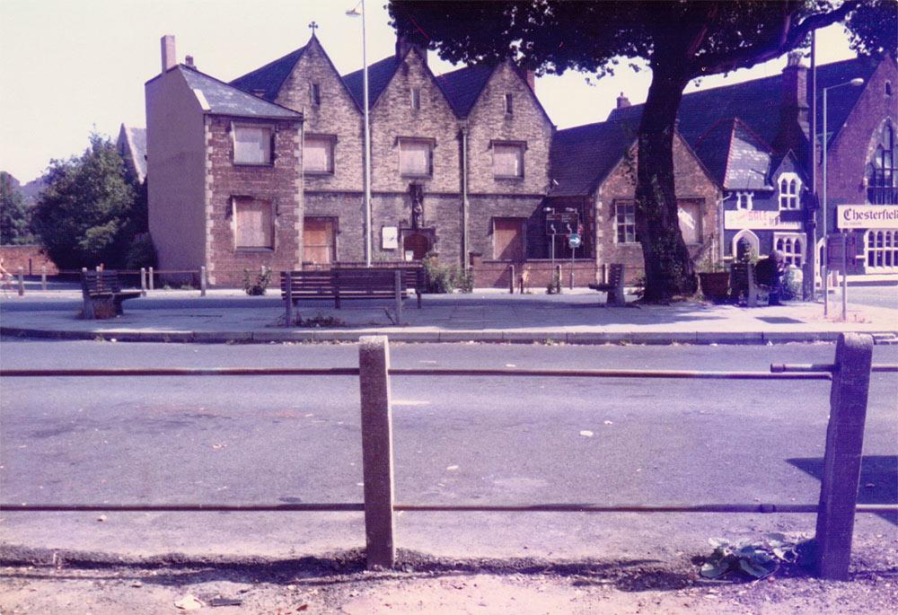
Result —
<instances>
[{"instance_id":1,"label":"brick gable wall of the low building directly behind the tree trunk","mask_svg":"<svg viewBox=\"0 0 898 615\"><path fill-rule=\"evenodd\" d=\"M627 282L645 274L642 247L639 243L618 243L615 221L615 203L632 201L636 196L636 156L633 145L631 156L621 160L598 190L595 203L596 263L622 263ZM634 161L629 163L629 161ZM710 242L718 242L718 201L720 191L707 171L692 153L681 136L674 138L674 181L676 195L681 200L701 203L701 245L690 246L693 258Z\"/></svg>"}]
</instances>

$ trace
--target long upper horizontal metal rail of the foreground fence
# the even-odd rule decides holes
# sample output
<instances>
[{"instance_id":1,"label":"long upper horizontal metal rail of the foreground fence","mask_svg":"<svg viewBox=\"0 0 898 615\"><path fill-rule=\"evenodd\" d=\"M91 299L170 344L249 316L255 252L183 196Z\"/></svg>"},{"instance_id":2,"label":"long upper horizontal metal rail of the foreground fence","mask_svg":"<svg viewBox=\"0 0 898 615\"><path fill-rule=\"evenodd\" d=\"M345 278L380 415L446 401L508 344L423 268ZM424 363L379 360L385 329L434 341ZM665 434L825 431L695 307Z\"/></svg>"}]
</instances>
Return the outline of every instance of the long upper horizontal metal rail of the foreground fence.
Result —
<instances>
[{"instance_id":1,"label":"long upper horizontal metal rail of the foreground fence","mask_svg":"<svg viewBox=\"0 0 898 615\"><path fill-rule=\"evenodd\" d=\"M697 372L626 369L468 369L391 368L391 376L512 376L545 378L662 378L672 380L829 380L829 373ZM117 377L117 376L357 376L357 367L121 367L105 369L4 369L0 377Z\"/></svg>"}]
</instances>

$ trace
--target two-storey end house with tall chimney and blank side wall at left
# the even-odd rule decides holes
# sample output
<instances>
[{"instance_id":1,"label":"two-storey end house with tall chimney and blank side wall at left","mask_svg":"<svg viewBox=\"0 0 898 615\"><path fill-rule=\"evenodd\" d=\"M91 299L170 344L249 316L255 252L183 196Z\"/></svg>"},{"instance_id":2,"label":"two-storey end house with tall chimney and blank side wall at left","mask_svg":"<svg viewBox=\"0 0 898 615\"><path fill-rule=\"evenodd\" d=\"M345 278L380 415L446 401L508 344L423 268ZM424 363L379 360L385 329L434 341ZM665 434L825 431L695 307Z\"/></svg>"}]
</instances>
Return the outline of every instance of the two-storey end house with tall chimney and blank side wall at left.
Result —
<instances>
[{"instance_id":1,"label":"two-storey end house with tall chimney and blank side wall at left","mask_svg":"<svg viewBox=\"0 0 898 615\"><path fill-rule=\"evenodd\" d=\"M175 62L145 84L149 224L163 271L236 286L302 260L303 116Z\"/></svg>"}]
</instances>

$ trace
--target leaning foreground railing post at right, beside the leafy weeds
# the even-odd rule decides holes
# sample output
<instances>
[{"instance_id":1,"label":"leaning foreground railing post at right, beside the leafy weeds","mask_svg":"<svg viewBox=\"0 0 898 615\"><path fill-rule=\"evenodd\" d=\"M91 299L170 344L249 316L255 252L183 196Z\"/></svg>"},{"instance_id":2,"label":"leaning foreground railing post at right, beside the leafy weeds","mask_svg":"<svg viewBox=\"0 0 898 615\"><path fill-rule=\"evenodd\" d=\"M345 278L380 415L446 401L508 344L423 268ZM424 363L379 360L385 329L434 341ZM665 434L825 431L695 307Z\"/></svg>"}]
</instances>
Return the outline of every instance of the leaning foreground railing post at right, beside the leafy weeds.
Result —
<instances>
[{"instance_id":1,"label":"leaning foreground railing post at right, beside the leafy weeds","mask_svg":"<svg viewBox=\"0 0 898 615\"><path fill-rule=\"evenodd\" d=\"M873 338L839 336L817 507L817 574L825 579L848 579L872 359Z\"/></svg>"}]
</instances>

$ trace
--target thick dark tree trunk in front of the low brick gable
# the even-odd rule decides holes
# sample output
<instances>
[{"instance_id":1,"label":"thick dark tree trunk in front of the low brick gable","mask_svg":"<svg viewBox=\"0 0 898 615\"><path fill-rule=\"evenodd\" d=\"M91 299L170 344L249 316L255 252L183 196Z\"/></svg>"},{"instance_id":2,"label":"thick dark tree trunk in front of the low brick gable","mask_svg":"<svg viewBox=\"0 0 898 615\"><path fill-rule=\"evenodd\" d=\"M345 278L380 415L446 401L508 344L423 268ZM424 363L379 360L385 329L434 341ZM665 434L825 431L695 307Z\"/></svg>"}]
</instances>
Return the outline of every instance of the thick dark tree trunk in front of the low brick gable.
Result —
<instances>
[{"instance_id":1,"label":"thick dark tree trunk in front of the low brick gable","mask_svg":"<svg viewBox=\"0 0 898 615\"><path fill-rule=\"evenodd\" d=\"M682 241L674 191L674 128L689 77L674 62L652 64L652 84L639 125L636 230L646 265L643 300L667 303L698 287Z\"/></svg>"}]
</instances>

